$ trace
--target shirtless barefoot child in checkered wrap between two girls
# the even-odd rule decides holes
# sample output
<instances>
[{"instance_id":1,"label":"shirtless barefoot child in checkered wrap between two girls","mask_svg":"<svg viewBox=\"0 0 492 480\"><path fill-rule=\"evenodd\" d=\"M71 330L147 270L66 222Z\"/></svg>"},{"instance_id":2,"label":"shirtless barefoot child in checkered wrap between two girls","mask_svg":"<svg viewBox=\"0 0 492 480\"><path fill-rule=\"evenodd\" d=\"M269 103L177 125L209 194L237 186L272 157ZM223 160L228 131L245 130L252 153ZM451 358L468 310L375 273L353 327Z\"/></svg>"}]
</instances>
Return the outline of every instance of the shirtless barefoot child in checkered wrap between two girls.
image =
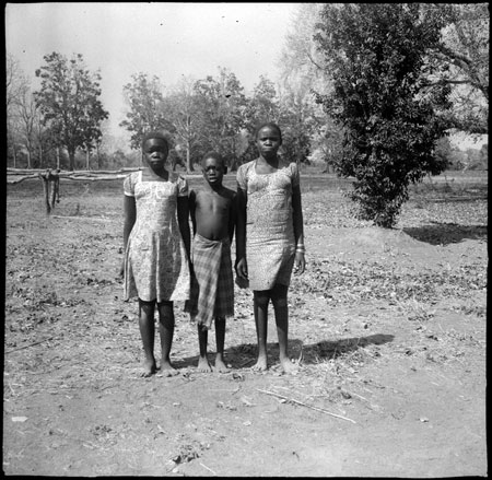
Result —
<instances>
[{"instance_id":1,"label":"shirtless barefoot child in checkered wrap between two girls","mask_svg":"<svg viewBox=\"0 0 492 480\"><path fill-rule=\"evenodd\" d=\"M203 188L189 194L194 237L191 292L185 311L198 325L198 370L212 371L207 343L208 331L215 320L214 367L218 372L227 372L224 361L225 317L234 315L231 242L236 221L236 194L222 185L227 166L219 153L207 153L201 166L206 180Z\"/></svg>"}]
</instances>

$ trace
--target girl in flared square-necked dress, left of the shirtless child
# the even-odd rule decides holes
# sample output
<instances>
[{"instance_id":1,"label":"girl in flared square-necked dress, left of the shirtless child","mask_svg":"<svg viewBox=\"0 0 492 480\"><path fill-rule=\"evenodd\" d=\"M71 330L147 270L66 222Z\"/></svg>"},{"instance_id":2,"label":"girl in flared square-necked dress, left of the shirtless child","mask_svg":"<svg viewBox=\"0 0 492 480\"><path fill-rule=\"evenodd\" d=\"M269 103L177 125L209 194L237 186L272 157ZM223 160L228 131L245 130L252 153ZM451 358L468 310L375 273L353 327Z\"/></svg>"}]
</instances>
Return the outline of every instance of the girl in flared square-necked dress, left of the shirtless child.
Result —
<instances>
[{"instance_id":1,"label":"girl in flared square-necked dress, left of the shirtless child","mask_svg":"<svg viewBox=\"0 0 492 480\"><path fill-rule=\"evenodd\" d=\"M189 298L188 184L168 172L169 143L165 134L151 132L142 141L147 167L125 178L124 295L138 297L143 343L142 376L157 370L154 358L154 312L159 311L161 372L176 373L169 352L174 335L174 301Z\"/></svg>"}]
</instances>

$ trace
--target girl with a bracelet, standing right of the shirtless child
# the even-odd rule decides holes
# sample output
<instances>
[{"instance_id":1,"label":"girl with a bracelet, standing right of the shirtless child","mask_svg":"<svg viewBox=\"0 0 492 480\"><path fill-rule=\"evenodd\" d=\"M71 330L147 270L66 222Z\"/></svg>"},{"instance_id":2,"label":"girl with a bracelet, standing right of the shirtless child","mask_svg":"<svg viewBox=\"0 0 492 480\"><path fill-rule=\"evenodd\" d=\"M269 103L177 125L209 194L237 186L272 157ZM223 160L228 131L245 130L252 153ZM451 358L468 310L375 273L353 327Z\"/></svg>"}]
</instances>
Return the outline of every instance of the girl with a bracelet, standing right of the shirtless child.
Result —
<instances>
[{"instance_id":1,"label":"girl with a bracelet, standing right of the shirtless child","mask_svg":"<svg viewBox=\"0 0 492 480\"><path fill-rule=\"evenodd\" d=\"M283 163L277 155L282 133L276 124L261 125L256 141L259 157L237 171L236 274L239 282L248 282L254 293L258 359L253 370L268 368L271 301L280 364L289 373L295 367L288 354L288 289L292 270L302 273L305 269L300 176L295 163Z\"/></svg>"}]
</instances>

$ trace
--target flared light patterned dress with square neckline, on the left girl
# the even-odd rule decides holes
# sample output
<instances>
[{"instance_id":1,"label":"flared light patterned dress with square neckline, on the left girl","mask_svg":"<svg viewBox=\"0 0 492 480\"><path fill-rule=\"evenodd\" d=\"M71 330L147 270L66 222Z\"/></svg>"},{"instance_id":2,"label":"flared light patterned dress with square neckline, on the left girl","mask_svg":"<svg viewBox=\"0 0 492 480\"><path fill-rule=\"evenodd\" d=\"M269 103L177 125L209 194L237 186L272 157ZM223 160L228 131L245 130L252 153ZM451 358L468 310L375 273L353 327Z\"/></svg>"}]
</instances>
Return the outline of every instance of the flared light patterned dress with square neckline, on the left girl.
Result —
<instances>
[{"instance_id":1,"label":"flared light patterned dress with square neckline, on the left girl","mask_svg":"<svg viewBox=\"0 0 492 480\"><path fill-rule=\"evenodd\" d=\"M126 301L186 301L190 276L177 221L177 198L188 196L185 178L142 182L142 171L125 178L125 195L134 197L137 220L125 251Z\"/></svg>"}]
</instances>

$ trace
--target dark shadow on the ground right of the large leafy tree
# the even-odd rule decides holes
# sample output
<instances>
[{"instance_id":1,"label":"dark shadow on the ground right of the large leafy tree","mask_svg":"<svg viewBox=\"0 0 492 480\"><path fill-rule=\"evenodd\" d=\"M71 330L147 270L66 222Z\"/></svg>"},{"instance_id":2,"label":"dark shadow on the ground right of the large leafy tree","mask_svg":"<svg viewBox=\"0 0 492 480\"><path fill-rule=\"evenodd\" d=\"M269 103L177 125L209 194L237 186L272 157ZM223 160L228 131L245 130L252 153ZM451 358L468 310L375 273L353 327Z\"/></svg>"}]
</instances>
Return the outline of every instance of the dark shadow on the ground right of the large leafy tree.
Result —
<instances>
[{"instance_id":1,"label":"dark shadow on the ground right of the large leafy tree","mask_svg":"<svg viewBox=\"0 0 492 480\"><path fill-rule=\"evenodd\" d=\"M448 245L464 239L487 239L487 225L458 225L432 222L430 225L403 229L407 235L431 245Z\"/></svg>"}]
</instances>

